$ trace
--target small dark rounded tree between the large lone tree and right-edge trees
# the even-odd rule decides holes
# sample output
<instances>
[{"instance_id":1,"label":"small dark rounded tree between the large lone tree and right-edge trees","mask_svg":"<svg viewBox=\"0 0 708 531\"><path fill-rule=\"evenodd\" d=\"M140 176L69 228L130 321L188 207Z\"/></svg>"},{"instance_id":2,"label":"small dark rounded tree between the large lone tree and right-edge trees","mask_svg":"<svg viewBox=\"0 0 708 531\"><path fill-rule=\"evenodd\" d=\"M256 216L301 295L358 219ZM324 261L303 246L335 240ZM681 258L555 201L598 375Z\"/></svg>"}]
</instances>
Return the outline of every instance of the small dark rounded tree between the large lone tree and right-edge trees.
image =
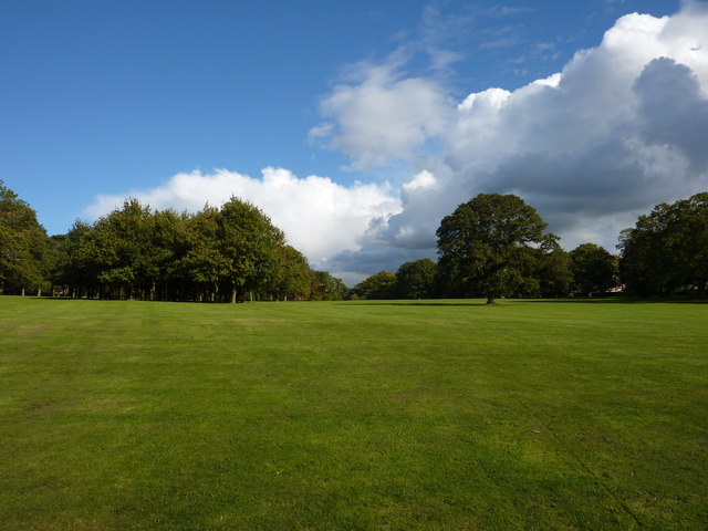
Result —
<instances>
[{"instance_id":1,"label":"small dark rounded tree between the large lone tree and right-edge trees","mask_svg":"<svg viewBox=\"0 0 708 531\"><path fill-rule=\"evenodd\" d=\"M570 252L575 291L592 296L617 284L617 259L595 243L582 243Z\"/></svg>"}]
</instances>

